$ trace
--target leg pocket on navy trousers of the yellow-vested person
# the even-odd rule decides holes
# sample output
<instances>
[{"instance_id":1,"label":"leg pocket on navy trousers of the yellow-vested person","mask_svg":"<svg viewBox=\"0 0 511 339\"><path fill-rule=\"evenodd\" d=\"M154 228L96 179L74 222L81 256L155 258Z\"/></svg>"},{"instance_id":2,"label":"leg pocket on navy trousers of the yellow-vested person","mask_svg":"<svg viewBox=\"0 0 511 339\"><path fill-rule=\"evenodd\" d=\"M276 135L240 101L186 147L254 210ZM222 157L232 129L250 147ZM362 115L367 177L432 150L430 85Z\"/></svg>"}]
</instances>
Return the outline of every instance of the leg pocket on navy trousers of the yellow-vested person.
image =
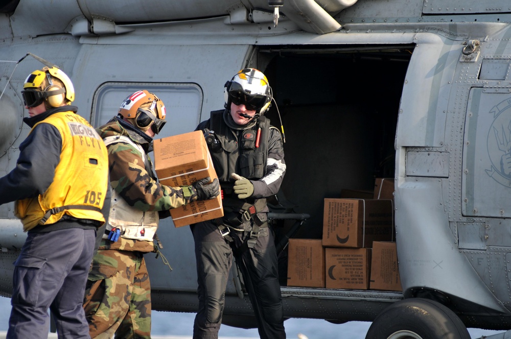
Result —
<instances>
[{"instance_id":1,"label":"leg pocket on navy trousers of the yellow-vested person","mask_svg":"<svg viewBox=\"0 0 511 339\"><path fill-rule=\"evenodd\" d=\"M14 262L12 303L36 306L47 259L21 253Z\"/></svg>"}]
</instances>

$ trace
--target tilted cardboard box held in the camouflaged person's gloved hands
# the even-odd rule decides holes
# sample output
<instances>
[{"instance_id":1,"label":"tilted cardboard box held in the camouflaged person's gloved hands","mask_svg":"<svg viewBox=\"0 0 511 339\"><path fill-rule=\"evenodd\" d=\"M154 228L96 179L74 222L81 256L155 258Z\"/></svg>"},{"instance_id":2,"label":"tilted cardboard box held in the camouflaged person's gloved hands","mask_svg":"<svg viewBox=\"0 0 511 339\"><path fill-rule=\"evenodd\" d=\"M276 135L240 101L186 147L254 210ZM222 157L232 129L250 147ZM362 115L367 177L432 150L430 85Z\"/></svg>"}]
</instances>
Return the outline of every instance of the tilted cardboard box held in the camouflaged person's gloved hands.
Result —
<instances>
[{"instance_id":1,"label":"tilted cardboard box held in the camouflaged person's gloved hands","mask_svg":"<svg viewBox=\"0 0 511 339\"><path fill-rule=\"evenodd\" d=\"M199 179L217 178L201 131L154 140L154 168L159 181L168 186L187 186ZM223 216L222 198L195 201L170 210L176 227Z\"/></svg>"}]
</instances>

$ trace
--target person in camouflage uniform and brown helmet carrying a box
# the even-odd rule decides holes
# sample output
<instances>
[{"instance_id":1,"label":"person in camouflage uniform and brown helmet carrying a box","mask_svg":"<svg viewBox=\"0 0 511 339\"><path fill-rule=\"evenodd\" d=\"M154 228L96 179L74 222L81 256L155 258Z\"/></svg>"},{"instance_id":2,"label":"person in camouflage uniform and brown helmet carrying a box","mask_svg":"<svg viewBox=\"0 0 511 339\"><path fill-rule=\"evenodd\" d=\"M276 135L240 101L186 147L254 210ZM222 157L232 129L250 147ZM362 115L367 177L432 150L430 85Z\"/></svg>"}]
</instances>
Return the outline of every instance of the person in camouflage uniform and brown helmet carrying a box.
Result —
<instances>
[{"instance_id":1,"label":"person in camouflage uniform and brown helmet carrying a box","mask_svg":"<svg viewBox=\"0 0 511 339\"><path fill-rule=\"evenodd\" d=\"M151 288L144 253L169 209L218 196L218 180L170 187L156 181L152 137L165 125L165 106L153 93L137 91L119 115L97 129L108 149L112 199L107 231L92 260L85 290L92 338L150 338Z\"/></svg>"}]
</instances>

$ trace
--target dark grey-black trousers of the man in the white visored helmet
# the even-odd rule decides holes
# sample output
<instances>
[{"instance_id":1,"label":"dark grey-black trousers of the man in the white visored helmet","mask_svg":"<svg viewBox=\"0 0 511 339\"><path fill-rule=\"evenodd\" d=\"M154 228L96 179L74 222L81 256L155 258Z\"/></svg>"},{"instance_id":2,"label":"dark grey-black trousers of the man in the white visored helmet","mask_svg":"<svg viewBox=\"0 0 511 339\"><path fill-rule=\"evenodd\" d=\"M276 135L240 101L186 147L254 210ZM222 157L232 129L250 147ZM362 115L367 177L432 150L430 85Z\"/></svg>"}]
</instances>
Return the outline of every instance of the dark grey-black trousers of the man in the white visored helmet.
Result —
<instances>
[{"instance_id":1,"label":"dark grey-black trousers of the man in the white visored helmet","mask_svg":"<svg viewBox=\"0 0 511 339\"><path fill-rule=\"evenodd\" d=\"M191 228L195 240L199 284L199 309L195 317L193 338L218 338L233 250L258 323L259 335L262 339L285 338L277 256L270 230L267 227L261 228L254 248L238 252L237 249L243 243L243 233L231 234L234 241L229 243L210 222L199 223Z\"/></svg>"}]
</instances>

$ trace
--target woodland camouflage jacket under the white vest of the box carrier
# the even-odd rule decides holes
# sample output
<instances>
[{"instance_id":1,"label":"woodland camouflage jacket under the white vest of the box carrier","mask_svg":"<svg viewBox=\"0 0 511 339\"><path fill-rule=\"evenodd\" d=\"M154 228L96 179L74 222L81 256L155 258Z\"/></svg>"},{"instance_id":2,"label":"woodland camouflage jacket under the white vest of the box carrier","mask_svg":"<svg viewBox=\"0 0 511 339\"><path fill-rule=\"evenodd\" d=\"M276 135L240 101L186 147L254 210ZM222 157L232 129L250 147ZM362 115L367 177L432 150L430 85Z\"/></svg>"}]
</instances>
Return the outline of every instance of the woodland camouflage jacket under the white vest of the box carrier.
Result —
<instances>
[{"instance_id":1,"label":"woodland camouflage jacket under the white vest of the box carrier","mask_svg":"<svg viewBox=\"0 0 511 339\"><path fill-rule=\"evenodd\" d=\"M146 155L152 151L152 138L142 134L118 117L99 127L97 132L103 139L111 136L127 136L134 143L140 145ZM120 139L119 142L108 144L107 149L112 189L134 209L144 212L161 212L197 200L197 192L193 186L190 187L192 196L184 197L181 187L160 184L154 175L151 159L141 154L134 145ZM148 241L124 238L119 238L119 240L115 243L106 240L106 247L103 246L105 241L102 241L100 249L131 249L143 252L147 252L149 248L152 250L152 242L147 244ZM146 249L139 249L141 246Z\"/></svg>"}]
</instances>

